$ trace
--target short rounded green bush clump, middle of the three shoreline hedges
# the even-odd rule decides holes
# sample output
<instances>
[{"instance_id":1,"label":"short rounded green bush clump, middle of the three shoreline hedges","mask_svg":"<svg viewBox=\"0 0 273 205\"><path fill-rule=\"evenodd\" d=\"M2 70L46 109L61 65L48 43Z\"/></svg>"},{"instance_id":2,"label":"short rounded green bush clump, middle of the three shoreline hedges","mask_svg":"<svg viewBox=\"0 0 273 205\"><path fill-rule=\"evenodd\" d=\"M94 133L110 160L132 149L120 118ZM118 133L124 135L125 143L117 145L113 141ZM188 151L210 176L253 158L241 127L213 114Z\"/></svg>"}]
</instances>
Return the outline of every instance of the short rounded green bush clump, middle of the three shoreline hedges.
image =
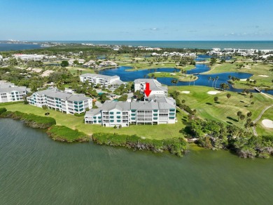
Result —
<instances>
[{"instance_id":1,"label":"short rounded green bush clump, middle of the three shoreline hedges","mask_svg":"<svg viewBox=\"0 0 273 205\"><path fill-rule=\"evenodd\" d=\"M53 140L66 143L87 142L90 140L85 133L73 130L66 126L51 126L46 133L48 133Z\"/></svg>"}]
</instances>

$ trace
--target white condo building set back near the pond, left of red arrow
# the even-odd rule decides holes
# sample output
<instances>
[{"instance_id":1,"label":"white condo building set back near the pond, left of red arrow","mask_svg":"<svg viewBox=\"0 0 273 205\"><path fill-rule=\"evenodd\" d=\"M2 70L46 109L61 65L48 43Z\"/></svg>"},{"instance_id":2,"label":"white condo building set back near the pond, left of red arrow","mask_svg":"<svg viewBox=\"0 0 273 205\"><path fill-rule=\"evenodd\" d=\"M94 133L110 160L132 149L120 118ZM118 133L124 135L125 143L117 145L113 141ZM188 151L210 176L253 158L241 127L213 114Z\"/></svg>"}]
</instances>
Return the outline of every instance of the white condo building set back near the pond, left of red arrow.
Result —
<instances>
[{"instance_id":1,"label":"white condo building set back near the pond, left of red arrow","mask_svg":"<svg viewBox=\"0 0 273 205\"><path fill-rule=\"evenodd\" d=\"M101 84L102 86L108 87L112 86L114 88L125 84L125 82L120 80L120 77L117 75L114 76L108 76L108 75L103 75L103 74L91 74L91 73L86 73L80 75L80 81L85 82L88 81L90 84L94 84L96 86L97 84Z\"/></svg>"}]
</instances>

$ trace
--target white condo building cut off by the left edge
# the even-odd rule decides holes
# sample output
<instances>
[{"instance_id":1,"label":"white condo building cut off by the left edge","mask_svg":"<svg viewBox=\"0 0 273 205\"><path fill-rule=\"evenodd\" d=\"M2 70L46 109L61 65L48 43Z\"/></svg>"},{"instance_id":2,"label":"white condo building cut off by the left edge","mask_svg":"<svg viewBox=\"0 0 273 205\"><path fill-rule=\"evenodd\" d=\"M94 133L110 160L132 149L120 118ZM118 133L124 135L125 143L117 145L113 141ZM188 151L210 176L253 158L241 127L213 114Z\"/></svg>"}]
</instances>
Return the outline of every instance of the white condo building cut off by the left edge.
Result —
<instances>
[{"instance_id":1,"label":"white condo building cut off by the left edge","mask_svg":"<svg viewBox=\"0 0 273 205\"><path fill-rule=\"evenodd\" d=\"M0 81L0 102L22 101L27 95L27 87L18 87L11 83Z\"/></svg>"}]
</instances>

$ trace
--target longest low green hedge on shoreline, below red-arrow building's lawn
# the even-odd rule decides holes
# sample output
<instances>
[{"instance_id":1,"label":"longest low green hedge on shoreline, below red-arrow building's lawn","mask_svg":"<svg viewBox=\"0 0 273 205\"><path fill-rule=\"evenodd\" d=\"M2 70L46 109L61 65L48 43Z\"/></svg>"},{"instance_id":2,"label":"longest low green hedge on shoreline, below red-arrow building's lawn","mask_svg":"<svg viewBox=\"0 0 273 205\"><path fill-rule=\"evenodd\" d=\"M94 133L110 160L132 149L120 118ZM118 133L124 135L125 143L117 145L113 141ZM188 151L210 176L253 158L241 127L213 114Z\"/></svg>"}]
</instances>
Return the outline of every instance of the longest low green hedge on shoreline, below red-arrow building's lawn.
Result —
<instances>
[{"instance_id":1,"label":"longest low green hedge on shoreline, below red-arrow building's lawn","mask_svg":"<svg viewBox=\"0 0 273 205\"><path fill-rule=\"evenodd\" d=\"M139 138L137 135L118 135L116 133L94 133L92 140L99 145L128 147L134 150L148 150L155 153L168 150L179 157L182 157L187 145L183 138L155 140Z\"/></svg>"}]
</instances>

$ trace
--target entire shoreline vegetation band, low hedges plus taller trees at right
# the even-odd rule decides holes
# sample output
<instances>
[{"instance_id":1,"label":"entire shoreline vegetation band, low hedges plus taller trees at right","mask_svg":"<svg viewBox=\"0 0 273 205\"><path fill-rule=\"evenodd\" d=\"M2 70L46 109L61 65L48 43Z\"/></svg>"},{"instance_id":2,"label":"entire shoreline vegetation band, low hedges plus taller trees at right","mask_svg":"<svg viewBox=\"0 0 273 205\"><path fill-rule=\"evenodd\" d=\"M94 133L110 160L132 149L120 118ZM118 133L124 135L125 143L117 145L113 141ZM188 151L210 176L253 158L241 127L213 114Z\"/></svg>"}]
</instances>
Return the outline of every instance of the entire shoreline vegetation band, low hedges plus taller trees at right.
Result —
<instances>
[{"instance_id":1,"label":"entire shoreline vegetation band, low hedges plus taller trees at right","mask_svg":"<svg viewBox=\"0 0 273 205\"><path fill-rule=\"evenodd\" d=\"M32 128L47 128L46 133L52 140L65 143L83 143L92 140L97 145L113 147L127 147L135 150L147 150L153 153L169 151L178 157L186 153L188 143L196 143L200 147L210 150L230 150L241 158L268 159L273 154L273 137L269 135L254 136L237 126L225 126L214 120L202 120L188 115L186 128L180 131L183 138L165 138L162 140L139 137L137 135L123 135L118 133L92 133L92 136L71 129L57 126L52 117L41 117L35 114L11 112L0 107L0 117L20 119ZM240 137L239 137L240 136ZM187 142L188 141L188 142Z\"/></svg>"}]
</instances>

